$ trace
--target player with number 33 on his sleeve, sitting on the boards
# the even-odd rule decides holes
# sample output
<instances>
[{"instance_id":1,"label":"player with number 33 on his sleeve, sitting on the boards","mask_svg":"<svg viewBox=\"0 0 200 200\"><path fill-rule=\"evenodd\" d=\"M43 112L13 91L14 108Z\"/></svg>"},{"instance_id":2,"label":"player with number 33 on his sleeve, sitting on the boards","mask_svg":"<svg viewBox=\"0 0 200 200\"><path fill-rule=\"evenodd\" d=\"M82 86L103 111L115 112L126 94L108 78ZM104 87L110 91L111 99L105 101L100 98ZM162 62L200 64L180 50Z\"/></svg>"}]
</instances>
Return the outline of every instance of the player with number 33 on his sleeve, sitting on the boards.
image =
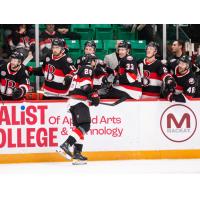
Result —
<instances>
[{"instance_id":1,"label":"player with number 33 on his sleeve, sitting on the boards","mask_svg":"<svg viewBox=\"0 0 200 200\"><path fill-rule=\"evenodd\" d=\"M140 99L142 96L141 79L134 58L129 55L130 44L121 41L118 44L119 64L115 69L115 79L109 92L101 98Z\"/></svg>"}]
</instances>

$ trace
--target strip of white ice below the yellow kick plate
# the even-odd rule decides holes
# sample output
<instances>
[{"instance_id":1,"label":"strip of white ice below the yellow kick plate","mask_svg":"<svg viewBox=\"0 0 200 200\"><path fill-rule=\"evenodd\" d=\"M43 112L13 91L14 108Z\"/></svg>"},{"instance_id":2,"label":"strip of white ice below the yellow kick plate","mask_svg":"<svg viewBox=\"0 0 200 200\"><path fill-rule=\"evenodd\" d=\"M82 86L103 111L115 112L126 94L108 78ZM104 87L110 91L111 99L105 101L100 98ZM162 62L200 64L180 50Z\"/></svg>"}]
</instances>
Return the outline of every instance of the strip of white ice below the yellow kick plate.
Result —
<instances>
[{"instance_id":1,"label":"strip of white ice below the yellow kick plate","mask_svg":"<svg viewBox=\"0 0 200 200\"><path fill-rule=\"evenodd\" d=\"M1 164L1 174L123 174L123 173L199 173L200 159L90 161L74 166L70 162Z\"/></svg>"}]
</instances>

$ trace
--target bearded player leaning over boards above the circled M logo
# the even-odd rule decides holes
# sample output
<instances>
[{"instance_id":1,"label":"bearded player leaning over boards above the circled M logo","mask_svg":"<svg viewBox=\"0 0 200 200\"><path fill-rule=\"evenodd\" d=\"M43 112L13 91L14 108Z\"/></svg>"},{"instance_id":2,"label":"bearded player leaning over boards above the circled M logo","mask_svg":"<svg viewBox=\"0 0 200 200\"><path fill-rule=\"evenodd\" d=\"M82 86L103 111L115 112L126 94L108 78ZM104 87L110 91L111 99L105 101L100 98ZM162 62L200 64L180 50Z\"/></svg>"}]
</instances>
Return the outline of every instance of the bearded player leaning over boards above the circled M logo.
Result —
<instances>
[{"instance_id":1,"label":"bearded player leaning over boards above the circled M logo","mask_svg":"<svg viewBox=\"0 0 200 200\"><path fill-rule=\"evenodd\" d=\"M169 101L186 102L186 98L194 97L196 91L195 76L190 68L190 60L188 56L179 58L178 64L175 67L173 77L176 81L174 90L165 87L163 96Z\"/></svg>"}]
</instances>

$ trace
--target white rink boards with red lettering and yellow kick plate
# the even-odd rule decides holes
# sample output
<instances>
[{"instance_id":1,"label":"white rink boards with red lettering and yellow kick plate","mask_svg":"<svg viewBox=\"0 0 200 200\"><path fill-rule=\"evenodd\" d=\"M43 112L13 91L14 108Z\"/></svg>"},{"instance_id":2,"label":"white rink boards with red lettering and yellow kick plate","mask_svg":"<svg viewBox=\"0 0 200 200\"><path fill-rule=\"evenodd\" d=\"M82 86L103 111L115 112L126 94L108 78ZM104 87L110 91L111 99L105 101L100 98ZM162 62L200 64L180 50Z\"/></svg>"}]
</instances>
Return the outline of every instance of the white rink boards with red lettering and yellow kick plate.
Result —
<instances>
[{"instance_id":1,"label":"white rink boards with red lettering and yellow kick plate","mask_svg":"<svg viewBox=\"0 0 200 200\"><path fill-rule=\"evenodd\" d=\"M90 110L84 145L89 160L200 158L199 100L128 100ZM0 163L65 161L55 150L71 128L66 101L5 102L0 105Z\"/></svg>"}]
</instances>

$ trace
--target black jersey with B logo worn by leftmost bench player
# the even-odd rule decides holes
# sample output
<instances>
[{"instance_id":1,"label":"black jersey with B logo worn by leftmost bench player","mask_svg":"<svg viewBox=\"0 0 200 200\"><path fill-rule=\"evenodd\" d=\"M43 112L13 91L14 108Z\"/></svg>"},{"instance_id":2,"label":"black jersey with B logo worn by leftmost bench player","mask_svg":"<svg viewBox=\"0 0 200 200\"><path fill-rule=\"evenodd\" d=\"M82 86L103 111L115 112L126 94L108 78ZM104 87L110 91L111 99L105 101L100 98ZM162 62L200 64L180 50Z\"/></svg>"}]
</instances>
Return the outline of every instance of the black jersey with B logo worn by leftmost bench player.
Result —
<instances>
[{"instance_id":1,"label":"black jersey with B logo worn by leftmost bench player","mask_svg":"<svg viewBox=\"0 0 200 200\"><path fill-rule=\"evenodd\" d=\"M30 89L30 81L25 66L21 65L17 72L10 68L10 63L0 67L0 89L1 95L5 100L12 100L14 88L24 88L26 92Z\"/></svg>"}]
</instances>

